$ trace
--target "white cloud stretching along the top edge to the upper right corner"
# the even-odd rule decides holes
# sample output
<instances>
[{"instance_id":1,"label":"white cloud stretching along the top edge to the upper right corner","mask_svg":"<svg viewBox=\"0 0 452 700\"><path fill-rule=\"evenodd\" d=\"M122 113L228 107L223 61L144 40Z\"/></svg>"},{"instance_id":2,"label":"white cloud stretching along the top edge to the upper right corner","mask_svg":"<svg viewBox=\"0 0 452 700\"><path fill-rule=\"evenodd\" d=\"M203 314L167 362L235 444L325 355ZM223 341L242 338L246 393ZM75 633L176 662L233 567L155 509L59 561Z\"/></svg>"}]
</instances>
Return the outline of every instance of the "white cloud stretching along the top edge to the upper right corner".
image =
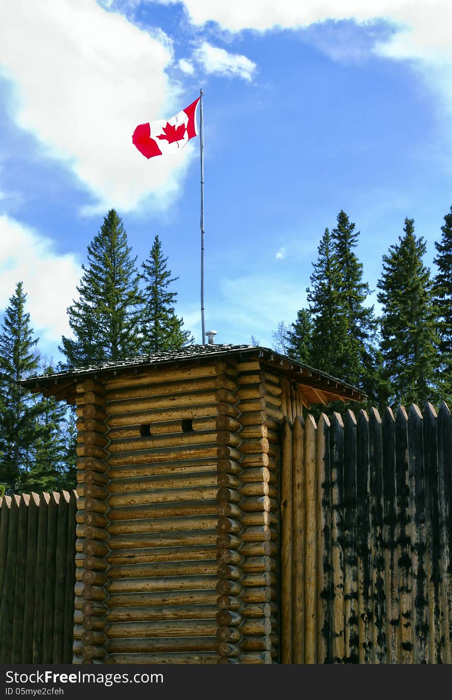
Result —
<instances>
[{"instance_id":1,"label":"white cloud stretching along the top edge to the upper right corner","mask_svg":"<svg viewBox=\"0 0 452 700\"><path fill-rule=\"evenodd\" d=\"M154 0L163 4L182 0ZM299 29L326 20L360 24L384 20L390 38L374 46L392 59L409 59L425 83L452 109L452 3L450 0L183 0L189 20L198 27L217 22L230 32L242 29ZM353 47L350 48L353 55ZM335 57L335 49L326 48ZM342 58L340 52L339 58Z\"/></svg>"}]
</instances>

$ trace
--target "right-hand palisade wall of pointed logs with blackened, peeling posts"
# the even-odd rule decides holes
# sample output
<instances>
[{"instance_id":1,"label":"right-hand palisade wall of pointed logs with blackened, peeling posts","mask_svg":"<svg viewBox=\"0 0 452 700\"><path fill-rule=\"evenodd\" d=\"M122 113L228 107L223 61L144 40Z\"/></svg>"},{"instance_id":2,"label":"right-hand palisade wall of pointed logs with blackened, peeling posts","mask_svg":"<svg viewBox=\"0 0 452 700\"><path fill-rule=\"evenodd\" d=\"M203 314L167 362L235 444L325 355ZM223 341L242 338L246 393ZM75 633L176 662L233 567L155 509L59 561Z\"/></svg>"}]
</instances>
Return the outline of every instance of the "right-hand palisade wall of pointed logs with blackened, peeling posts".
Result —
<instances>
[{"instance_id":1,"label":"right-hand palisade wall of pointed logs with blackened, peeling posts","mask_svg":"<svg viewBox=\"0 0 452 700\"><path fill-rule=\"evenodd\" d=\"M282 661L451 663L448 407L286 417L283 450Z\"/></svg>"}]
</instances>

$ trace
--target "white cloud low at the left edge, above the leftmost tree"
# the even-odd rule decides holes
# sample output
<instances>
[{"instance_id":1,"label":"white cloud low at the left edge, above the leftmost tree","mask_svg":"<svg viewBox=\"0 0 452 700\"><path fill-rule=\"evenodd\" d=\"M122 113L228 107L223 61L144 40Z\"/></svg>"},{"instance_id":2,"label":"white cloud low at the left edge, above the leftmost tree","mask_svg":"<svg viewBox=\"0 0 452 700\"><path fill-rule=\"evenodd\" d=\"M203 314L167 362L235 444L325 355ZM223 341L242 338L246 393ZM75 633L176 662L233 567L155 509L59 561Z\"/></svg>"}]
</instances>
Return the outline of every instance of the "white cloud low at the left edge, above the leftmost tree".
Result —
<instances>
[{"instance_id":1,"label":"white cloud low at the left edge, above the leftmost tree","mask_svg":"<svg viewBox=\"0 0 452 700\"><path fill-rule=\"evenodd\" d=\"M77 256L60 255L50 239L0 216L0 309L6 309L17 282L23 281L31 325L48 346L71 334L66 308L81 274Z\"/></svg>"}]
</instances>

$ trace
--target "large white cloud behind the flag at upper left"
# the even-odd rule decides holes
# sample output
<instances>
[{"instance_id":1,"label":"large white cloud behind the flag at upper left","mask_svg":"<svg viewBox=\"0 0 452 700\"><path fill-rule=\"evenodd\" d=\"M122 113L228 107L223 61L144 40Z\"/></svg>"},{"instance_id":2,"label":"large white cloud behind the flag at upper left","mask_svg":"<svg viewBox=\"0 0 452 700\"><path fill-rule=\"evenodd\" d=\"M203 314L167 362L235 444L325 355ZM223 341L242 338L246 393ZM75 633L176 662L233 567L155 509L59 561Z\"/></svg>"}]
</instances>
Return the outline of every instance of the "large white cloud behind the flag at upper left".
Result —
<instances>
[{"instance_id":1,"label":"large white cloud behind the flag at upper left","mask_svg":"<svg viewBox=\"0 0 452 700\"><path fill-rule=\"evenodd\" d=\"M0 70L15 87L15 123L66 162L92 195L91 211L129 211L144 200L168 207L193 149L148 161L131 141L138 124L186 106L165 72L173 62L168 37L95 0L15 0L0 8Z\"/></svg>"}]
</instances>

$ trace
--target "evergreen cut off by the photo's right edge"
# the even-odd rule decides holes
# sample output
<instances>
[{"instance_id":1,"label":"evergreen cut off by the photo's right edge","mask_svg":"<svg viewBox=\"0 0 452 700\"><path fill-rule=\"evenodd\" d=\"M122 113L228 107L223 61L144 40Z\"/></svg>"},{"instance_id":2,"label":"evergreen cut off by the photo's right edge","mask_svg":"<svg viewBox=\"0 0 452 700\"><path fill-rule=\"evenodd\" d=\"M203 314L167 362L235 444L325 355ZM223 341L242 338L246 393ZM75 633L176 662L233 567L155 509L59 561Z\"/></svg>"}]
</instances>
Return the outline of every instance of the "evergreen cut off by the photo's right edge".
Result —
<instances>
[{"instance_id":1,"label":"evergreen cut off by the photo's right edge","mask_svg":"<svg viewBox=\"0 0 452 700\"><path fill-rule=\"evenodd\" d=\"M442 398L450 402L452 399L452 207L449 214L444 216L444 226L441 230L441 241L435 242L438 255L433 262L438 267L438 273L434 279L434 293L442 365Z\"/></svg>"}]
</instances>

